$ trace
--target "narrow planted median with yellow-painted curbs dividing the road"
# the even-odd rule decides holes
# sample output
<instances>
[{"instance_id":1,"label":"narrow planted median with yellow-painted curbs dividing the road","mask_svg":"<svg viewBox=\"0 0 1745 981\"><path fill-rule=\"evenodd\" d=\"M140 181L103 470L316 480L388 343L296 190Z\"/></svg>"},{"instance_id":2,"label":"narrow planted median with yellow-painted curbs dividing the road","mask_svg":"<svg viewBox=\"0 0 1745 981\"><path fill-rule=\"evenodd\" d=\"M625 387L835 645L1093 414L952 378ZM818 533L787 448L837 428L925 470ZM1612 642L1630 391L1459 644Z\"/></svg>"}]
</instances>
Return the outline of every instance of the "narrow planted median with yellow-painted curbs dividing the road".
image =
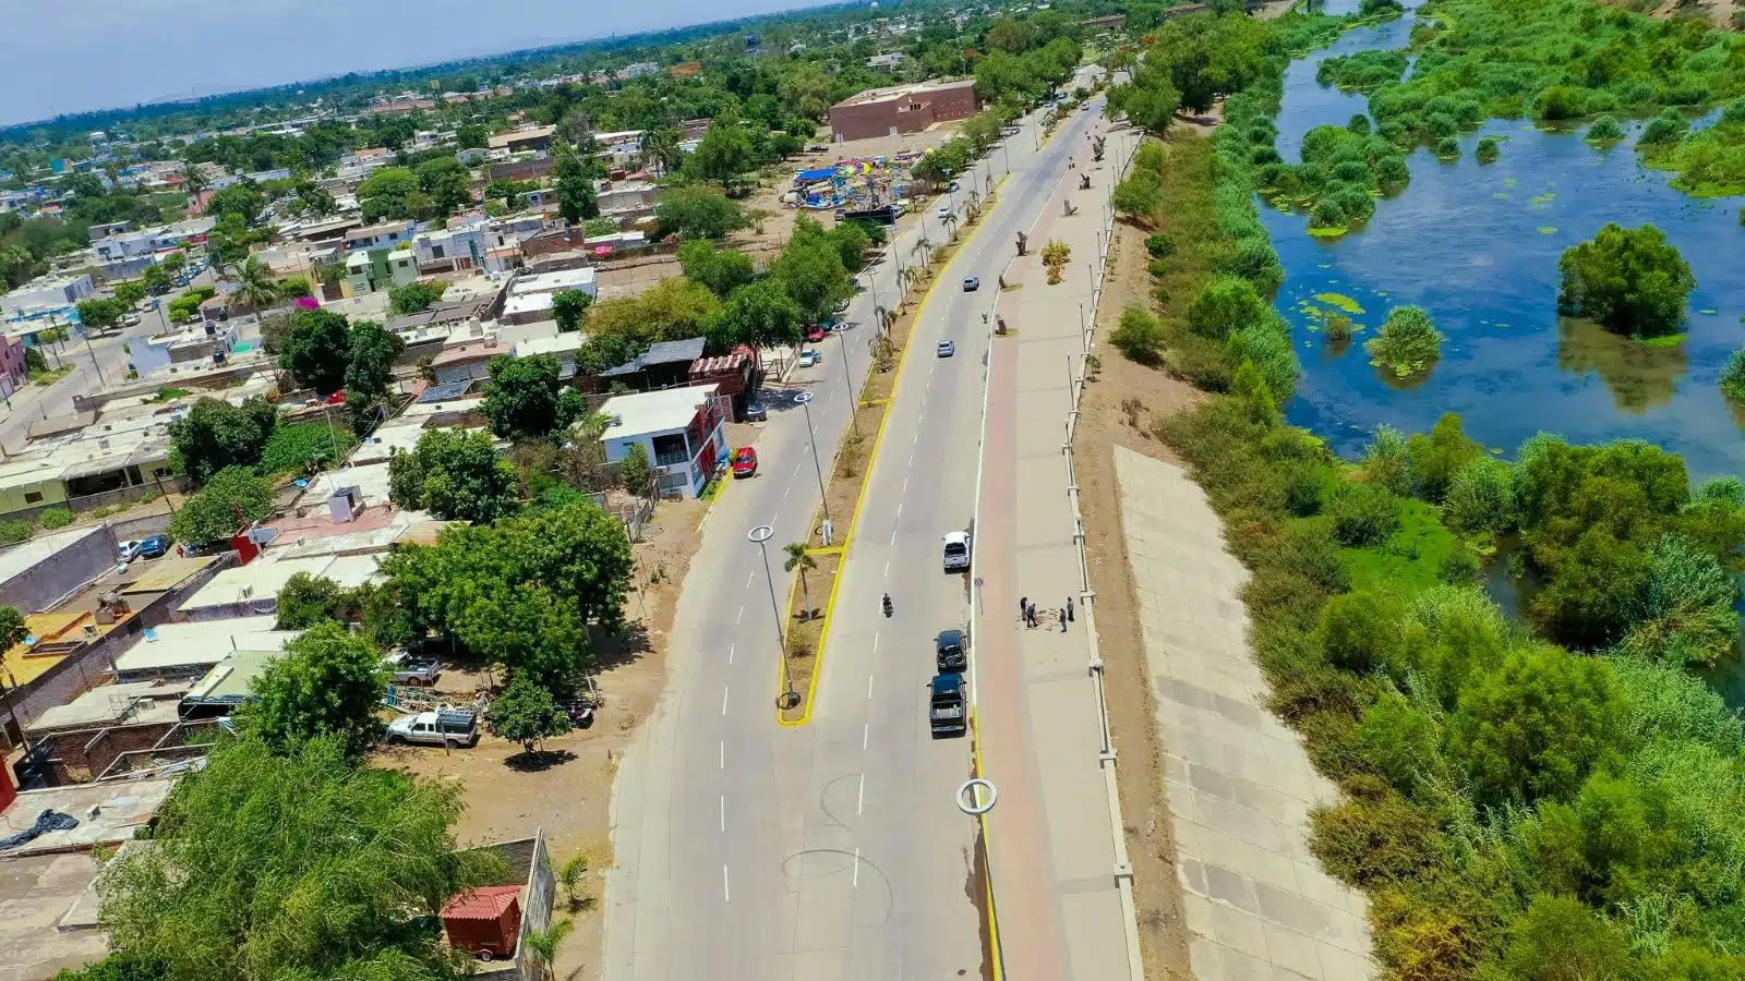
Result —
<instances>
[{"instance_id":1,"label":"narrow planted median with yellow-painted curbs dividing the road","mask_svg":"<svg viewBox=\"0 0 1745 981\"><path fill-rule=\"evenodd\" d=\"M1005 182L1007 182L1009 176L1010 176L1010 173L1005 175L1005 176L1002 176L995 183L995 194L998 194L998 190L1002 187L1005 187ZM998 199L993 199L993 201L996 202ZM859 470L859 473L853 473L853 471L845 473L843 471L845 454L850 454L853 447L860 445L860 442L866 440L866 435L860 435L860 438L855 440L855 429L853 428L850 428L850 431L843 436L843 442L838 445L836 457L832 457L832 461L831 461L831 478L829 478L829 482L825 485L825 497L829 499L831 492L836 490L841 484L846 482L850 487L855 487L853 508L850 510L848 527L843 529L843 532L841 532L841 543L843 545L839 546L841 552L836 555L838 566L836 566L836 573L831 576L831 592L829 592L829 599L824 604L824 614L818 616L815 621L806 621L806 632L808 634L810 634L810 630L813 627L817 628L817 646L810 651L810 656L803 658L803 660L806 660L804 667L810 670L810 677L806 677L806 683L803 686L797 681L797 677L796 677L796 683L794 683L794 688L796 688L796 691L799 691L801 700L792 709L782 709L780 702L777 702L777 721L780 724L784 724L784 726L789 726L789 728L792 728L792 726L803 726L803 724L806 724L806 723L811 721L811 705L813 705L813 702L817 702L817 695L818 695L818 676L824 674L824 651L829 646L829 637L831 637L831 614L836 611L836 592L841 587L841 580L843 580L841 578L841 569L843 569L843 566L848 564L848 550L853 548L853 543L855 543L855 529L860 525L860 508L862 508L862 504L867 499L867 485L872 480L872 470L878 466L879 449L885 445L885 426L890 421L890 405L893 405L895 400L897 400L897 389L902 384L904 370L909 365L909 354L914 349L914 344L913 344L913 340L914 340L914 330L916 330L916 326L920 326L921 316L927 312L928 300L934 298L934 290L939 286L939 283L942 283L946 279L946 274L951 271L951 264L956 260L956 257L965 248L968 248L970 241L975 239L975 232L979 232L981 229L988 227L988 223L991 222L993 211L995 211L995 202L988 204L982 209L981 218L974 225L968 227L968 230L960 237L960 241L956 244L946 244L944 246L949 251L939 262L937 272L932 274L932 279L928 281L927 290L921 293L921 298L916 302L914 309L907 314L907 318L899 318L899 321L897 321L899 325L902 325L902 319L907 319L907 330L900 332L902 344L900 344L900 351L897 353L897 365L892 368L890 394L888 394L888 398L879 400L879 403L866 403L866 401L862 401L857 407L857 412L855 412L857 422L859 421L866 421L869 415L876 415L876 421L874 421L876 426L867 426L869 429L876 429L874 436L872 436L872 449L867 452L867 456L866 456L864 461L857 461L855 470ZM892 248L895 248L895 246L892 246ZM893 335L893 339L899 335L897 326L892 328L892 335ZM867 367L867 375L866 377L867 379L874 379L879 374L883 374L883 372L879 372L878 365L874 363L874 365ZM869 384L872 384L872 382L867 381L867 382L862 384L862 393L867 391ZM852 440L855 440L855 442L852 442ZM850 457L850 459L853 459L853 457ZM852 484L855 477L860 478L859 485ZM820 510L818 515L813 520L813 527L820 527L822 524L824 524L824 511ZM808 538L808 541L810 543L817 543L818 536L811 534ZM818 548L822 548L822 546L820 545L813 545L813 546L808 548L808 553L817 553ZM799 576L797 574L794 576L794 581L796 581L796 587L797 587L797 583L799 583ZM792 611L794 611L792 592L789 595L789 604L787 606L789 606L789 611L790 611L790 618L789 618L789 627L787 628L794 630L796 620L792 620ZM803 634L803 635L806 635L806 634ZM787 651L784 651L784 656L785 655L787 655ZM787 667L784 667L784 670L777 677L777 683L782 686L782 688L778 688L778 691L785 693L787 691Z\"/></svg>"}]
</instances>

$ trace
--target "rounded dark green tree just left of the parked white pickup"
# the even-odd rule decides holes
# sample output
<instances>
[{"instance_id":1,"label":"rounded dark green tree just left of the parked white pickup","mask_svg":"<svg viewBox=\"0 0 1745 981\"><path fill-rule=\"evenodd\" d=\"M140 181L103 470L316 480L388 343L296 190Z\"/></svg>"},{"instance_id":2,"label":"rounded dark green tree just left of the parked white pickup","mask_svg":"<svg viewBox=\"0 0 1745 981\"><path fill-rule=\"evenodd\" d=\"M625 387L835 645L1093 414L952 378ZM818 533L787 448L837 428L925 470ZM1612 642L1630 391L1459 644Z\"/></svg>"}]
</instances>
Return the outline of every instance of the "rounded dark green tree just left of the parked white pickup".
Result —
<instances>
[{"instance_id":1,"label":"rounded dark green tree just left of the parked white pickup","mask_svg":"<svg viewBox=\"0 0 1745 981\"><path fill-rule=\"evenodd\" d=\"M337 738L352 759L375 745L382 724L382 656L332 620L284 646L253 683L243 726L279 752L314 738Z\"/></svg>"}]
</instances>

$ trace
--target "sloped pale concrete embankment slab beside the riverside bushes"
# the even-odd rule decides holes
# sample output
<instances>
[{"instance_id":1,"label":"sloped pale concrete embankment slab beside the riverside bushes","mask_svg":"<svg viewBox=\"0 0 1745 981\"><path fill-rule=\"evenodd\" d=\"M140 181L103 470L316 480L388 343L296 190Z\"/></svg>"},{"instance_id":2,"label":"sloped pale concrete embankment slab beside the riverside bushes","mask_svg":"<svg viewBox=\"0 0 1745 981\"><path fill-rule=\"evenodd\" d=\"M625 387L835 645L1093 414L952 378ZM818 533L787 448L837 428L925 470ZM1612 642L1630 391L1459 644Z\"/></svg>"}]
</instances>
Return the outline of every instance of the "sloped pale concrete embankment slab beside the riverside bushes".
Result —
<instances>
[{"instance_id":1,"label":"sloped pale concrete embankment slab beside the riverside bushes","mask_svg":"<svg viewBox=\"0 0 1745 981\"><path fill-rule=\"evenodd\" d=\"M1194 976L1372 976L1365 899L1328 878L1307 845L1309 808L1337 789L1267 710L1267 681L1248 653L1248 571L1181 468L1115 447L1115 475Z\"/></svg>"}]
</instances>

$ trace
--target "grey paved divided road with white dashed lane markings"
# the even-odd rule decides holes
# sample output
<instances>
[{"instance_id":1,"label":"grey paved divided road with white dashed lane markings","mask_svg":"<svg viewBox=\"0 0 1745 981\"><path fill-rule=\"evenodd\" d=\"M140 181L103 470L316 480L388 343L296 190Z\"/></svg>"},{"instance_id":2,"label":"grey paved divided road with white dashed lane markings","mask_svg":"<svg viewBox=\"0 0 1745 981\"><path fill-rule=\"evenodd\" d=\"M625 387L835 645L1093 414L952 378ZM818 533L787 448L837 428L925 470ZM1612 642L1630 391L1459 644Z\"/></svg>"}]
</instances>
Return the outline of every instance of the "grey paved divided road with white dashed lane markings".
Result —
<instances>
[{"instance_id":1,"label":"grey paved divided road with white dashed lane markings","mask_svg":"<svg viewBox=\"0 0 1745 981\"><path fill-rule=\"evenodd\" d=\"M1009 140L1012 176L1000 206L941 274L916 323L804 728L775 721L777 628L757 548L745 541L757 524L775 527L773 546L803 539L818 499L804 417L771 400L763 475L735 482L708 517L679 606L668 695L619 775L607 978L981 974L974 824L951 799L970 747L925 731L932 637L968 616L963 576L941 569L941 534L974 511L981 314L1016 232L1037 218L1089 117L1075 113L1040 152L1033 120ZM995 150L988 162L996 180L1005 159ZM974 180L981 185L981 169ZM937 243L944 234L932 209L925 229ZM904 262L909 243L893 246ZM888 300L893 267L874 272ZM963 293L965 276L988 288ZM871 293L857 304L852 318L871 323ZM848 422L839 360L850 358L857 384L866 372L862 332L827 342L824 363L796 377L817 396L825 456ZM955 358L934 356L941 339L956 344ZM777 553L775 587L785 597L778 562ZM878 613L886 590L892 620Z\"/></svg>"}]
</instances>

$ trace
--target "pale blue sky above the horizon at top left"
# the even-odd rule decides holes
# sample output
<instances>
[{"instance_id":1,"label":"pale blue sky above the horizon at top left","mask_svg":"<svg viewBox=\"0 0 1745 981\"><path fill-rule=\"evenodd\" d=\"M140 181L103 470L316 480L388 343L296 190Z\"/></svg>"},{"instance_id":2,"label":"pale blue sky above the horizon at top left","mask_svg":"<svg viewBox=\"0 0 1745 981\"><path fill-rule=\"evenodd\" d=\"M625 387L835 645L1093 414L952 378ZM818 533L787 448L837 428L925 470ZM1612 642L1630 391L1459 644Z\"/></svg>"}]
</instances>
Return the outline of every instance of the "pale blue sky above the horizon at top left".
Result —
<instances>
[{"instance_id":1,"label":"pale blue sky above the horizon at top left","mask_svg":"<svg viewBox=\"0 0 1745 981\"><path fill-rule=\"evenodd\" d=\"M822 0L0 0L0 126Z\"/></svg>"}]
</instances>

